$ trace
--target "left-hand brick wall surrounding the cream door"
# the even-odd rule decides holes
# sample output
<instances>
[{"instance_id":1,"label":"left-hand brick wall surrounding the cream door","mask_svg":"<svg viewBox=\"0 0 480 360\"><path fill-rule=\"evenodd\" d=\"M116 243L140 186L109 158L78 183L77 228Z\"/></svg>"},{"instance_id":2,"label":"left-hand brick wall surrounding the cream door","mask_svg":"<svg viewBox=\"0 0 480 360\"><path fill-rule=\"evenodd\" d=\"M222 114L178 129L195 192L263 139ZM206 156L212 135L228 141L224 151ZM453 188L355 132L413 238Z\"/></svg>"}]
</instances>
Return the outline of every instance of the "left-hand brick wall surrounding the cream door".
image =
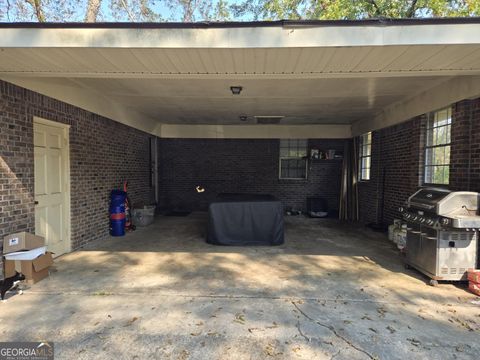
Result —
<instances>
[{"instance_id":1,"label":"left-hand brick wall surrounding the cream door","mask_svg":"<svg viewBox=\"0 0 480 360\"><path fill-rule=\"evenodd\" d=\"M33 117L71 125L72 247L108 236L109 192L130 181L133 202L150 202L149 135L0 81L0 239L34 232Z\"/></svg>"}]
</instances>

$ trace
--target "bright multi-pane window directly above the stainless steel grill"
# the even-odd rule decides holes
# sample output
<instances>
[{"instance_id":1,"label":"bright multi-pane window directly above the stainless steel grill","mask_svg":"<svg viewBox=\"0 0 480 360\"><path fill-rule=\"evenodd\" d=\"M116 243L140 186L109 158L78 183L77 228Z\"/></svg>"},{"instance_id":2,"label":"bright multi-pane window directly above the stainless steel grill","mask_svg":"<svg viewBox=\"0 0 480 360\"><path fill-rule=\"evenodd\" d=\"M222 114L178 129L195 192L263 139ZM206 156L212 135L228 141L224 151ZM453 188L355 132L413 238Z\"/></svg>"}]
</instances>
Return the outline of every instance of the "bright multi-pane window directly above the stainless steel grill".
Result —
<instances>
[{"instance_id":1,"label":"bright multi-pane window directly above the stainless steel grill","mask_svg":"<svg viewBox=\"0 0 480 360\"><path fill-rule=\"evenodd\" d=\"M448 184L451 127L452 109L450 107L428 115L424 169L426 184Z\"/></svg>"}]
</instances>

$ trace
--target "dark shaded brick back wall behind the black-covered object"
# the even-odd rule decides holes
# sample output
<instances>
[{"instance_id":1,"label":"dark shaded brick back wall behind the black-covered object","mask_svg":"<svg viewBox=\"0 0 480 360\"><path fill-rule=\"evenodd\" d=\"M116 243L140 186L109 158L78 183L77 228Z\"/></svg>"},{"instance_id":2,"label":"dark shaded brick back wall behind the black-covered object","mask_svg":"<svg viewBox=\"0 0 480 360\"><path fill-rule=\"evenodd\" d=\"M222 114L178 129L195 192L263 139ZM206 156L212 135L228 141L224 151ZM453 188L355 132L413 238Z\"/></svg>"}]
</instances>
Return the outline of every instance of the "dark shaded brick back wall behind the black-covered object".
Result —
<instances>
[{"instance_id":1,"label":"dark shaded brick back wall behind the black-covered object","mask_svg":"<svg viewBox=\"0 0 480 360\"><path fill-rule=\"evenodd\" d=\"M343 140L310 140L309 147L343 151ZM222 192L266 193L286 207L305 209L306 197L323 196L338 209L342 161L309 163L307 180L278 178L278 140L161 139L160 204L206 210ZM197 193L195 187L206 191Z\"/></svg>"}]
</instances>

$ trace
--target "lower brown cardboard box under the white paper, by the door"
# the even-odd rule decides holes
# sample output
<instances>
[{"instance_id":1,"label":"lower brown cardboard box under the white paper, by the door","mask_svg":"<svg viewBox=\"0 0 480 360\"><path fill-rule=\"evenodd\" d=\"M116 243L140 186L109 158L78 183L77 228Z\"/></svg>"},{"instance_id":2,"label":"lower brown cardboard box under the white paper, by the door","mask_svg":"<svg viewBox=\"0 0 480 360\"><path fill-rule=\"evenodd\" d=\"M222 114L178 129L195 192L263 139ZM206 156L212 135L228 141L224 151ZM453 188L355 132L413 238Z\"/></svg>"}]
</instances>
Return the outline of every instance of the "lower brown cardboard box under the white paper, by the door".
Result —
<instances>
[{"instance_id":1,"label":"lower brown cardboard box under the white paper, by the door","mask_svg":"<svg viewBox=\"0 0 480 360\"><path fill-rule=\"evenodd\" d=\"M5 260L5 277L12 277L15 271L25 275L27 284L35 284L48 276L48 268L53 265L52 253L47 252L35 260Z\"/></svg>"}]
</instances>

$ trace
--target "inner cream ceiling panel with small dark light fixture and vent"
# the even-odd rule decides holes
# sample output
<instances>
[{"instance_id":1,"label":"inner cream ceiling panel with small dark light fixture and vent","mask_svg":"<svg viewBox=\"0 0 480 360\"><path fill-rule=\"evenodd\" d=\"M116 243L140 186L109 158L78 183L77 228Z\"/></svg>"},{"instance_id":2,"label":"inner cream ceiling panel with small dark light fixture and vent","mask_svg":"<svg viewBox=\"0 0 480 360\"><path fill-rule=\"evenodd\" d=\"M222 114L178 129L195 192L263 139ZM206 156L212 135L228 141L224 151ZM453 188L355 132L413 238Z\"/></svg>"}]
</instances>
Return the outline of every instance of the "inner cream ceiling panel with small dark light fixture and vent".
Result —
<instances>
[{"instance_id":1,"label":"inner cream ceiling panel with small dark light fixture and vent","mask_svg":"<svg viewBox=\"0 0 480 360\"><path fill-rule=\"evenodd\" d=\"M352 79L69 79L162 123L239 124L285 116L282 124L350 124L449 77ZM44 79L48 81L48 79ZM232 95L231 85L241 85Z\"/></svg>"}]
</instances>

